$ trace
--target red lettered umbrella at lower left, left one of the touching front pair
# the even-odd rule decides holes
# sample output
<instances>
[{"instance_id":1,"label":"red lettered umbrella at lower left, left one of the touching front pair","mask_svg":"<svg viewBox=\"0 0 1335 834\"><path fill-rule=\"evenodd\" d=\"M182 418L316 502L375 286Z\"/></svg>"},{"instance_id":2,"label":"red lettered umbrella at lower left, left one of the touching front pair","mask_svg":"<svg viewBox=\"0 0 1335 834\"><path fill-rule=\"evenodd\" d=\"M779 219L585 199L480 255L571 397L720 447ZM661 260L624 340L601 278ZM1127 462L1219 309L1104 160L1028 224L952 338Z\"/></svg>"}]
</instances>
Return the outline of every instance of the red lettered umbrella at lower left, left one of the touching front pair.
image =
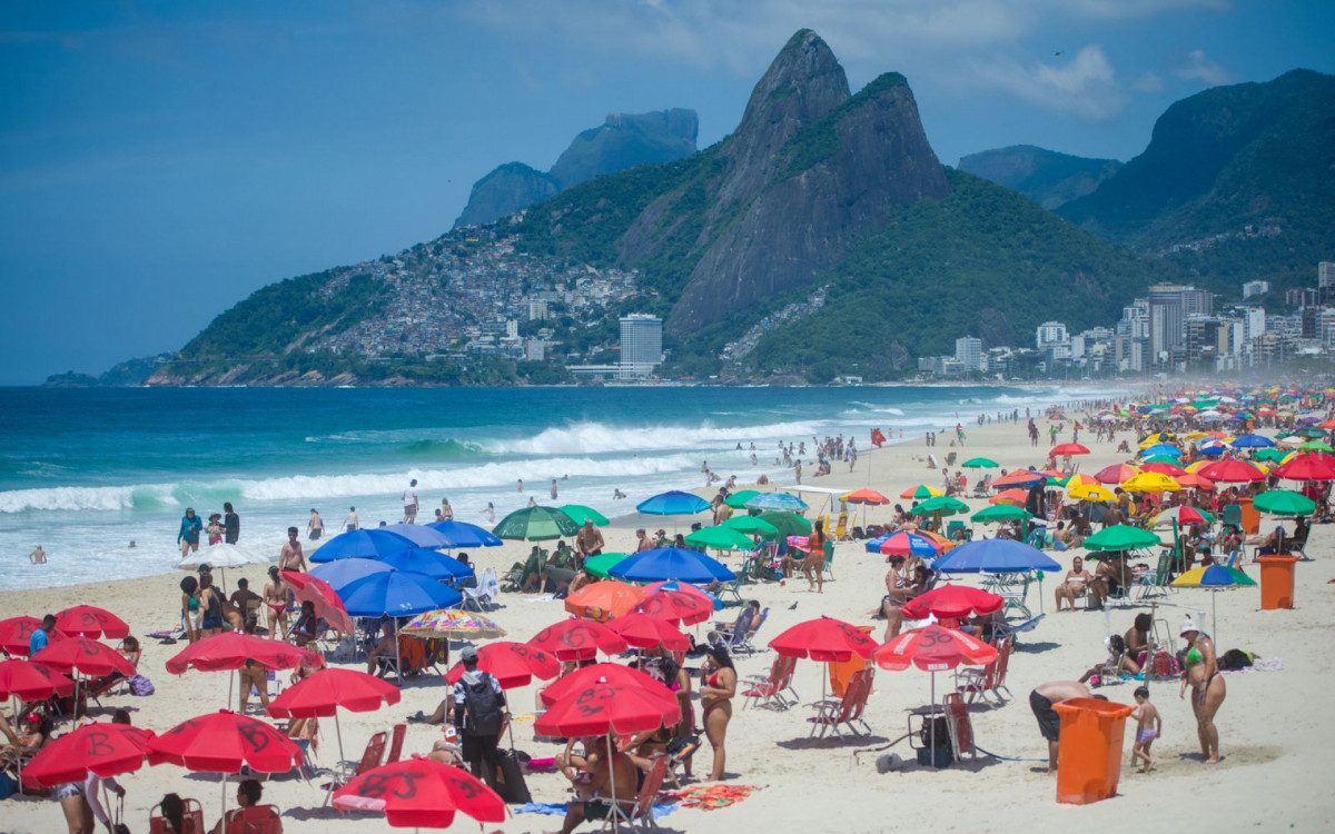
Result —
<instances>
[{"instance_id":1,"label":"red lettered umbrella at lower left, left one of the touching front pair","mask_svg":"<svg viewBox=\"0 0 1335 834\"><path fill-rule=\"evenodd\" d=\"M154 731L99 722L65 733L43 747L23 769L29 785L83 782L88 774L115 777L139 770L148 758Z\"/></svg>"}]
</instances>

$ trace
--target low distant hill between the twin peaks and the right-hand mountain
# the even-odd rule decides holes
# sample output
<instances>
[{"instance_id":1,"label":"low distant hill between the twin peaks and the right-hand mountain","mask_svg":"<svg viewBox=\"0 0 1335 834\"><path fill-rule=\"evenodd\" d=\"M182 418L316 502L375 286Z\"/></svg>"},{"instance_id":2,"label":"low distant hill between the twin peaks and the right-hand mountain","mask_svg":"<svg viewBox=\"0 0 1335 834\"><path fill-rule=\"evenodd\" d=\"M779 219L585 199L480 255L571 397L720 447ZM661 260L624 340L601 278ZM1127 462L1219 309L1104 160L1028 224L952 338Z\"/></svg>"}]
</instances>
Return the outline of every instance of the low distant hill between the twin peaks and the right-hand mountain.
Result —
<instances>
[{"instance_id":1,"label":"low distant hill between the twin peaks and the right-hand mountain","mask_svg":"<svg viewBox=\"0 0 1335 834\"><path fill-rule=\"evenodd\" d=\"M1048 211L1093 193L1121 163L1087 159L1033 145L1012 145L960 157L960 171L1017 191Z\"/></svg>"}]
</instances>

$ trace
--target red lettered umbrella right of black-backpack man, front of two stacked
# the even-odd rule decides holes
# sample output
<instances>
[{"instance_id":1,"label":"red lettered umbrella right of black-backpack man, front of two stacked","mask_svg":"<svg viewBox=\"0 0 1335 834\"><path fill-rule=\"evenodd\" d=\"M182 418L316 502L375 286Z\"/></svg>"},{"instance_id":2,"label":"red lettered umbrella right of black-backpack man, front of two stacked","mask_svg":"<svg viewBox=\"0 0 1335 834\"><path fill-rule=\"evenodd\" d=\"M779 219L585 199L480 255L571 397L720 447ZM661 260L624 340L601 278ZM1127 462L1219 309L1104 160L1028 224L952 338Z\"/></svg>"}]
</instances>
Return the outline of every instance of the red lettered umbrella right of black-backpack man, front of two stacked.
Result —
<instances>
[{"instance_id":1,"label":"red lettered umbrella right of black-backpack man, front of two stacked","mask_svg":"<svg viewBox=\"0 0 1335 834\"><path fill-rule=\"evenodd\" d=\"M676 695L669 702L647 687L595 682L567 691L533 722L533 729L542 735L603 735L609 731L629 735L680 721L681 706Z\"/></svg>"}]
</instances>

